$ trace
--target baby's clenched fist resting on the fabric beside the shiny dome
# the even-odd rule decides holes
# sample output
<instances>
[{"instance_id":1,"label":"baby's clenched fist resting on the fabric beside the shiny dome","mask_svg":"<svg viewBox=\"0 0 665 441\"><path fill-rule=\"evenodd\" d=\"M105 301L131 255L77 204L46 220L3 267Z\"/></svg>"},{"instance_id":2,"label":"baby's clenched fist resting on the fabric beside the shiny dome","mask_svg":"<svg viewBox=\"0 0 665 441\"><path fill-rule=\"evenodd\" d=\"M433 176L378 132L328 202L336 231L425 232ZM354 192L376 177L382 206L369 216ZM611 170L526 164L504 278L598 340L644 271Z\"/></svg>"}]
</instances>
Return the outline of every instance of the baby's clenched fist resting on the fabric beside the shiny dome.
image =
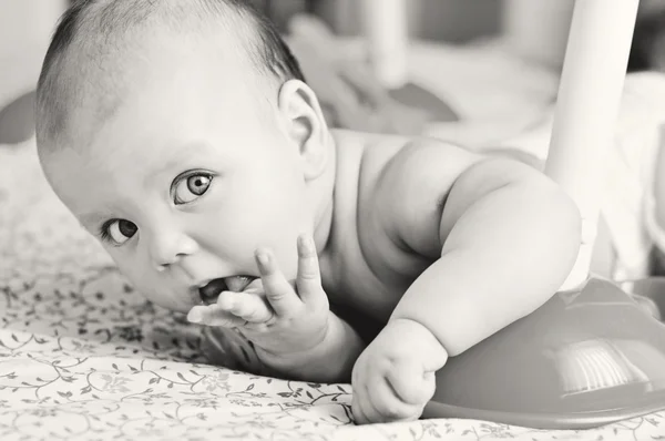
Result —
<instances>
[{"instance_id":1,"label":"baby's clenched fist resting on the fabric beside the shiny dome","mask_svg":"<svg viewBox=\"0 0 665 441\"><path fill-rule=\"evenodd\" d=\"M395 319L365 349L352 373L356 423L412 421L434 394L448 353L422 325Z\"/></svg>"}]
</instances>

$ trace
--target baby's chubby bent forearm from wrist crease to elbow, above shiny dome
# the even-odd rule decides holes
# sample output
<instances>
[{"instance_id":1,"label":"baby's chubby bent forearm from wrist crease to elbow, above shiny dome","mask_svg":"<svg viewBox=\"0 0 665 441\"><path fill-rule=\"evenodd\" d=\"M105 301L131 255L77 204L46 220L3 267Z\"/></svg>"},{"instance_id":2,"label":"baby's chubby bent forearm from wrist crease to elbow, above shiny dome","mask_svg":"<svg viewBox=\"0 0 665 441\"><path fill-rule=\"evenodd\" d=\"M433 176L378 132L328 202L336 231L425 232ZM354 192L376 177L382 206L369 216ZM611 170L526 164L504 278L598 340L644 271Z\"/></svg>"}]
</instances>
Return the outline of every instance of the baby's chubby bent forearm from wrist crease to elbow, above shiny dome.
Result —
<instances>
[{"instance_id":1,"label":"baby's chubby bent forearm from wrist crease to elbow, above shiny dome","mask_svg":"<svg viewBox=\"0 0 665 441\"><path fill-rule=\"evenodd\" d=\"M574 263L580 223L569 199L528 184L470 206L391 319L422 324L456 356L542 306Z\"/></svg>"}]
</instances>

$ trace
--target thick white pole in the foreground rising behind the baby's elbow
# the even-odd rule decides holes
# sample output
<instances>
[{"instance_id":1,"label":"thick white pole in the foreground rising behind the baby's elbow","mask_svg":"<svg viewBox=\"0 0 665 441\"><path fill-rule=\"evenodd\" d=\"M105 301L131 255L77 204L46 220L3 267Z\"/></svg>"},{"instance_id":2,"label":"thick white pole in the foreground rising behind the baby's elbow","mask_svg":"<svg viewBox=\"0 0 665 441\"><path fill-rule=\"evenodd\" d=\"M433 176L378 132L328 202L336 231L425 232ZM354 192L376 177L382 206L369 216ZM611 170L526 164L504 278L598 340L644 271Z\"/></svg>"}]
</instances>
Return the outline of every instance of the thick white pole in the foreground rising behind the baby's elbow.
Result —
<instances>
[{"instance_id":1,"label":"thick white pole in the foreground rising behind the baby's elbow","mask_svg":"<svg viewBox=\"0 0 665 441\"><path fill-rule=\"evenodd\" d=\"M545 173L577 203L582 246L562 289L590 273L603 196L603 151L612 148L638 0L577 0L567 41Z\"/></svg>"}]
</instances>

